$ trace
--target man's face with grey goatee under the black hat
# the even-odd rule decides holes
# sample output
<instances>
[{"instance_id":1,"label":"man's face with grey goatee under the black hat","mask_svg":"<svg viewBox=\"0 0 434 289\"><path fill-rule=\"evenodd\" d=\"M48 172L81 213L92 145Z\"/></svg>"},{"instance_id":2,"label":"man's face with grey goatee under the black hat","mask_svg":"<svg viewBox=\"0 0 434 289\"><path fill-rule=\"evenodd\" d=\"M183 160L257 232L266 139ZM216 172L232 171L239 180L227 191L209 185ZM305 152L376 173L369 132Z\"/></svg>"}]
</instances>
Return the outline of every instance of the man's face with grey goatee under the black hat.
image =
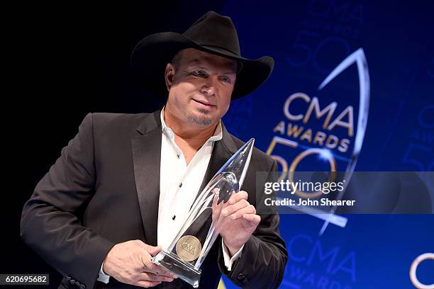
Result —
<instances>
[{"instance_id":1,"label":"man's face with grey goatee under the black hat","mask_svg":"<svg viewBox=\"0 0 434 289\"><path fill-rule=\"evenodd\" d=\"M208 126L228 111L237 62L194 48L182 50L179 61L167 64L167 111L182 123Z\"/></svg>"}]
</instances>

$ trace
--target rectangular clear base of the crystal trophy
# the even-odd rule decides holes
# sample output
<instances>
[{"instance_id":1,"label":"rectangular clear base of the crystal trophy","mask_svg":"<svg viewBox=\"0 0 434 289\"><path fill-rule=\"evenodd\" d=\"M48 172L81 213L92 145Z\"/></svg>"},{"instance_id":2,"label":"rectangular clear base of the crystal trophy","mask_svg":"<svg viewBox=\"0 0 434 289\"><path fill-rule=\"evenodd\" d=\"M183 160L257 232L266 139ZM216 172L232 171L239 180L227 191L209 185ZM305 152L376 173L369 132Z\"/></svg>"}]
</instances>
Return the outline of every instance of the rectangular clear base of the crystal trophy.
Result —
<instances>
[{"instance_id":1,"label":"rectangular clear base of the crystal trophy","mask_svg":"<svg viewBox=\"0 0 434 289\"><path fill-rule=\"evenodd\" d=\"M194 268L191 263L179 259L176 254L160 251L153 256L151 261L157 265L163 266L179 278L189 283L194 288L199 287L199 279L201 278L201 269Z\"/></svg>"}]
</instances>

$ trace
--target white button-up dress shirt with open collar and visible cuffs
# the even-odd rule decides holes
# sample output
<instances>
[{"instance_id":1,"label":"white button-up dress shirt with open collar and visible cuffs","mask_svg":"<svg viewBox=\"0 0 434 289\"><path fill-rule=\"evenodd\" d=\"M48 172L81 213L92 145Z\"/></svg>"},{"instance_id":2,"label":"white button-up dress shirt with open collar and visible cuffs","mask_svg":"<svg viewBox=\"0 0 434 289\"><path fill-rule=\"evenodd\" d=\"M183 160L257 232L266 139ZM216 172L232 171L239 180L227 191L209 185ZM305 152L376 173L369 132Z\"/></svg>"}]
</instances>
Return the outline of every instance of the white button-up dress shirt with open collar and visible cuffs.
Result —
<instances>
[{"instance_id":1,"label":"white button-up dress shirt with open collar and visible cuffs","mask_svg":"<svg viewBox=\"0 0 434 289\"><path fill-rule=\"evenodd\" d=\"M160 200L158 206L157 244L167 249L174 237L184 225L191 205L201 187L209 160L213 152L214 142L223 137L221 123L204 145L194 154L187 165L182 150L174 142L174 132L167 127L164 120L164 108L161 111L162 137L160 161ZM243 247L232 258L222 242L223 259L228 271L233 261L238 259ZM97 280L109 283L109 275L101 270Z\"/></svg>"}]
</instances>

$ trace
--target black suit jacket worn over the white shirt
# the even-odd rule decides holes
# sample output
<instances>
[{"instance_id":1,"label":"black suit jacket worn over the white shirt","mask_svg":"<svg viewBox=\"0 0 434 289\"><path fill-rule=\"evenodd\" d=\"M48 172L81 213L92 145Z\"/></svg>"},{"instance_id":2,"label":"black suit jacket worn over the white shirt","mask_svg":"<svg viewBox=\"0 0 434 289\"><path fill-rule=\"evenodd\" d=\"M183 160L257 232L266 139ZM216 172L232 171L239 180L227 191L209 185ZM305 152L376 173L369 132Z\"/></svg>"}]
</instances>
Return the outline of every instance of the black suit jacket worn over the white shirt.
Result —
<instances>
[{"instance_id":1,"label":"black suit jacket worn over the white shirt","mask_svg":"<svg viewBox=\"0 0 434 289\"><path fill-rule=\"evenodd\" d=\"M162 128L160 111L140 114L89 113L78 134L35 187L24 205L21 237L62 276L60 288L135 288L114 278L97 282L114 244L140 239L157 245ZM223 126L201 189L243 142ZM276 169L254 149L243 190L255 205L255 172ZM287 260L279 215L261 215L240 259L227 271L221 237L202 264L199 288L216 288L221 273L244 288L276 288ZM157 288L191 288L182 280Z\"/></svg>"}]
</instances>

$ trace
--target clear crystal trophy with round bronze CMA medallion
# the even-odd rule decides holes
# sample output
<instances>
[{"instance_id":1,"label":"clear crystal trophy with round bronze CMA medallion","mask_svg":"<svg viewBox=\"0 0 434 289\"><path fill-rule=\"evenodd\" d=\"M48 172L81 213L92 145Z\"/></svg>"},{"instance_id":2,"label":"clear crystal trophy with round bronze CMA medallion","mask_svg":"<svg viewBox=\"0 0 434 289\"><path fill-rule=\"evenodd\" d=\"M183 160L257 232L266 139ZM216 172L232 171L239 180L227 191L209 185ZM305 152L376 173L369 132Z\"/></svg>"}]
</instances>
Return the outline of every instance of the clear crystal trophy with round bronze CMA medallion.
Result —
<instances>
[{"instance_id":1,"label":"clear crystal trophy with round bronze CMA medallion","mask_svg":"<svg viewBox=\"0 0 434 289\"><path fill-rule=\"evenodd\" d=\"M221 210L243 185L254 143L255 139L249 140L221 167L197 196L186 222L170 246L152 257L152 262L194 288L199 287L200 266L225 225Z\"/></svg>"}]
</instances>

